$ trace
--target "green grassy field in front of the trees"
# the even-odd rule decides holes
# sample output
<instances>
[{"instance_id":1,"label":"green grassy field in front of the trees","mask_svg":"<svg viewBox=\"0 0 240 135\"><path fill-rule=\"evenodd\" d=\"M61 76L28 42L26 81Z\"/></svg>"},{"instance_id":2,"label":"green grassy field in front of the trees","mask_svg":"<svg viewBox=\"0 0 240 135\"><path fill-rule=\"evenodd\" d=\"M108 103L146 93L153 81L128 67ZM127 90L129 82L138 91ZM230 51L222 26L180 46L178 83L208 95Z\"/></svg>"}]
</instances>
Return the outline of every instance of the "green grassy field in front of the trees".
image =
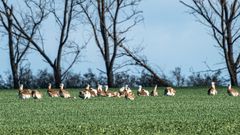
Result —
<instances>
[{"instance_id":1,"label":"green grassy field in front of the trees","mask_svg":"<svg viewBox=\"0 0 240 135\"><path fill-rule=\"evenodd\" d=\"M0 90L0 134L239 134L240 97L179 88L175 97L21 100ZM78 96L78 90L69 90ZM136 89L134 90L136 93Z\"/></svg>"}]
</instances>

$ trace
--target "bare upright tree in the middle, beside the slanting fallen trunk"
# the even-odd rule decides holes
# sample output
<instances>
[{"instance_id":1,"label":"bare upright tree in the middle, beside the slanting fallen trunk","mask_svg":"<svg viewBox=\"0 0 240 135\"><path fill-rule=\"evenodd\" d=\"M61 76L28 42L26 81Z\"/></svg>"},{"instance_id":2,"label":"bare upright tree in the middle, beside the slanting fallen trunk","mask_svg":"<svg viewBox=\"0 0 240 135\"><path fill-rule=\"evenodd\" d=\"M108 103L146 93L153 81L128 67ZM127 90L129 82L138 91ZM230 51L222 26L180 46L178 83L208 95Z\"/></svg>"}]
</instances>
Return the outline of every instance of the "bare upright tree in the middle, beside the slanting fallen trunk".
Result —
<instances>
[{"instance_id":1,"label":"bare upright tree in the middle, beside the slanting fallen trunk","mask_svg":"<svg viewBox=\"0 0 240 135\"><path fill-rule=\"evenodd\" d=\"M114 85L116 59L121 57L122 38L143 20L137 9L141 0L79 0L87 23L90 24L97 47L105 62L107 81Z\"/></svg>"}]
</instances>

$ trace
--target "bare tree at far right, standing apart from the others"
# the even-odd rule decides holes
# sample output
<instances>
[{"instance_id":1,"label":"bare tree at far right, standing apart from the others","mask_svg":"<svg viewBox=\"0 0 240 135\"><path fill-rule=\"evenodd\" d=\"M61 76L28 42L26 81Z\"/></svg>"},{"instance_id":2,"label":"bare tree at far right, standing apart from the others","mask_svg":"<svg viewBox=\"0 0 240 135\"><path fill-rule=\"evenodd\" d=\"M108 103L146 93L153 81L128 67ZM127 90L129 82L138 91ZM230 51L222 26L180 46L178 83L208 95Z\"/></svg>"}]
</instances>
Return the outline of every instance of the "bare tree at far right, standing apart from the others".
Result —
<instances>
[{"instance_id":1,"label":"bare tree at far right, standing apart from the others","mask_svg":"<svg viewBox=\"0 0 240 135\"><path fill-rule=\"evenodd\" d=\"M212 35L225 58L232 85L238 85L240 72L240 2L239 0L192 0L191 4L180 1L191 14L211 29Z\"/></svg>"}]
</instances>

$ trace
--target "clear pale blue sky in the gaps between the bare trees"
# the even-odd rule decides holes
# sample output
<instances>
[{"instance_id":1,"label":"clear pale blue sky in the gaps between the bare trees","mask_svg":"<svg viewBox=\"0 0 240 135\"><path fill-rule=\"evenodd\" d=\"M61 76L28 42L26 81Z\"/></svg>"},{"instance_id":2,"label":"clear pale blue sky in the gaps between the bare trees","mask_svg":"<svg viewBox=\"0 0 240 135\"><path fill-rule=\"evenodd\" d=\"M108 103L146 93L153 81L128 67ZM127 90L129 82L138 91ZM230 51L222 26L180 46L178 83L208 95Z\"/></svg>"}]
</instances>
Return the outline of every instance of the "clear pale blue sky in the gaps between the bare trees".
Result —
<instances>
[{"instance_id":1,"label":"clear pale blue sky in the gaps between the bare trees","mask_svg":"<svg viewBox=\"0 0 240 135\"><path fill-rule=\"evenodd\" d=\"M190 0L185 0L190 2ZM178 0L143 0L139 6L143 11L144 21L134 27L129 33L133 41L131 44L142 43L144 54L158 72L169 74L175 67L181 67L183 74L189 75L191 71L207 70L207 63L212 69L221 67L218 63L223 62L216 43L205 26L196 21L190 15L188 9ZM55 40L56 32L51 31L53 24L48 24L46 33L49 35L49 43ZM84 33L81 35L84 37ZM0 45L0 74L10 71L8 51ZM53 52L54 46L47 46L48 53ZM85 73L89 68L94 72L97 69L105 70L104 63L96 50L94 42L84 50L81 63L73 67L76 73ZM39 69L49 68L37 53L29 54L29 61L34 72Z\"/></svg>"}]
</instances>

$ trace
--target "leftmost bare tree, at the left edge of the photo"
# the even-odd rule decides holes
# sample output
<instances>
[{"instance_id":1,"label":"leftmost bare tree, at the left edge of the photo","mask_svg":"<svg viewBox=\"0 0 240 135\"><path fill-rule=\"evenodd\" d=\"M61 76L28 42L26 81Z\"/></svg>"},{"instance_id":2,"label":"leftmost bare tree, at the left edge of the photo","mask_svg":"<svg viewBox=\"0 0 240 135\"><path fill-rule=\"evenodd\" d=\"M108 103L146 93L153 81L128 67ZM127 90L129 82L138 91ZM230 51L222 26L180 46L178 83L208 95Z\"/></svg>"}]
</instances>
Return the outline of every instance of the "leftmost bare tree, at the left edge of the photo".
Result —
<instances>
[{"instance_id":1,"label":"leftmost bare tree, at the left edge of the photo","mask_svg":"<svg viewBox=\"0 0 240 135\"><path fill-rule=\"evenodd\" d=\"M30 42L25 42L22 38L22 34L16 31L16 29L13 27L13 7L11 6L11 8L8 8L6 1L2 0L2 7L0 12L0 21L4 29L2 33L8 36L8 50L13 77L13 87L16 89L19 85L19 66L25 58L27 51L29 50ZM24 29L29 29L31 27L28 25L29 20L23 20L24 21L22 21L22 25L24 26ZM31 38L34 36L35 30L35 28L31 30Z\"/></svg>"}]
</instances>

